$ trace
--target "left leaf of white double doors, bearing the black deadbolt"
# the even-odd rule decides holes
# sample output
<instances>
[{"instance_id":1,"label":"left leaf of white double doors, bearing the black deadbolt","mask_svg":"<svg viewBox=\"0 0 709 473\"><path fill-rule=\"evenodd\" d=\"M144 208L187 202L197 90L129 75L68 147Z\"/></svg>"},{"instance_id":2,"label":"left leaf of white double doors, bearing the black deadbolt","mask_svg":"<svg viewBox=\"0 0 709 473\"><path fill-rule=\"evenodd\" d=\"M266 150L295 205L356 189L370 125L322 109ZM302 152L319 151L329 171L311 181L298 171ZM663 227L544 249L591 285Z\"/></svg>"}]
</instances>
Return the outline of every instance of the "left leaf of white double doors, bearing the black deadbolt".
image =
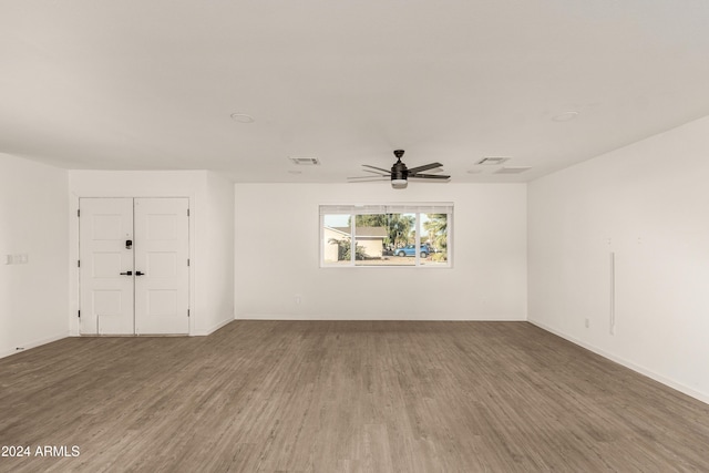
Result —
<instances>
[{"instance_id":1,"label":"left leaf of white double doors, bearing the black deadbolt","mask_svg":"<svg viewBox=\"0 0 709 473\"><path fill-rule=\"evenodd\" d=\"M133 335L132 198L81 198L82 335Z\"/></svg>"}]
</instances>

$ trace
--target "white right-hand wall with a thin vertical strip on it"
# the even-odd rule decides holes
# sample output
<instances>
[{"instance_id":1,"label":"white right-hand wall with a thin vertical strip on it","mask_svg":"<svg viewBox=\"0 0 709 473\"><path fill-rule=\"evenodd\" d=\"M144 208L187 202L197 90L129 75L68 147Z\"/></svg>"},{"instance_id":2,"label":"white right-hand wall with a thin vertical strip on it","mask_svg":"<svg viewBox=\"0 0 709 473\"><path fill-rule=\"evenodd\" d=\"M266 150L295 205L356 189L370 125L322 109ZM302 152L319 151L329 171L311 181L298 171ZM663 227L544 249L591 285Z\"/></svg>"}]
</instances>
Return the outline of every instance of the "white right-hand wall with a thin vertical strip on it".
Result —
<instances>
[{"instance_id":1,"label":"white right-hand wall with a thin vertical strip on it","mask_svg":"<svg viewBox=\"0 0 709 473\"><path fill-rule=\"evenodd\" d=\"M530 320L709 402L708 176L709 117L531 183Z\"/></svg>"}]
</instances>

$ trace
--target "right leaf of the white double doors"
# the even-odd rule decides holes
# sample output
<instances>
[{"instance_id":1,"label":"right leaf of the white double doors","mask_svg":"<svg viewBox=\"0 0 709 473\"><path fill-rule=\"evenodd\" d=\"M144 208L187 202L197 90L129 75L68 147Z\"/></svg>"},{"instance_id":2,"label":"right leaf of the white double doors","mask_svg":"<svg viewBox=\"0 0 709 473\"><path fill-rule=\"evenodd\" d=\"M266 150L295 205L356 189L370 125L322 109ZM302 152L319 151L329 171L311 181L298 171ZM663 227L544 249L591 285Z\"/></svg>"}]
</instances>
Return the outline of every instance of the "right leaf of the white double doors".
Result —
<instances>
[{"instance_id":1,"label":"right leaf of the white double doors","mask_svg":"<svg viewBox=\"0 0 709 473\"><path fill-rule=\"evenodd\" d=\"M135 199L135 333L189 332L187 198Z\"/></svg>"}]
</instances>

